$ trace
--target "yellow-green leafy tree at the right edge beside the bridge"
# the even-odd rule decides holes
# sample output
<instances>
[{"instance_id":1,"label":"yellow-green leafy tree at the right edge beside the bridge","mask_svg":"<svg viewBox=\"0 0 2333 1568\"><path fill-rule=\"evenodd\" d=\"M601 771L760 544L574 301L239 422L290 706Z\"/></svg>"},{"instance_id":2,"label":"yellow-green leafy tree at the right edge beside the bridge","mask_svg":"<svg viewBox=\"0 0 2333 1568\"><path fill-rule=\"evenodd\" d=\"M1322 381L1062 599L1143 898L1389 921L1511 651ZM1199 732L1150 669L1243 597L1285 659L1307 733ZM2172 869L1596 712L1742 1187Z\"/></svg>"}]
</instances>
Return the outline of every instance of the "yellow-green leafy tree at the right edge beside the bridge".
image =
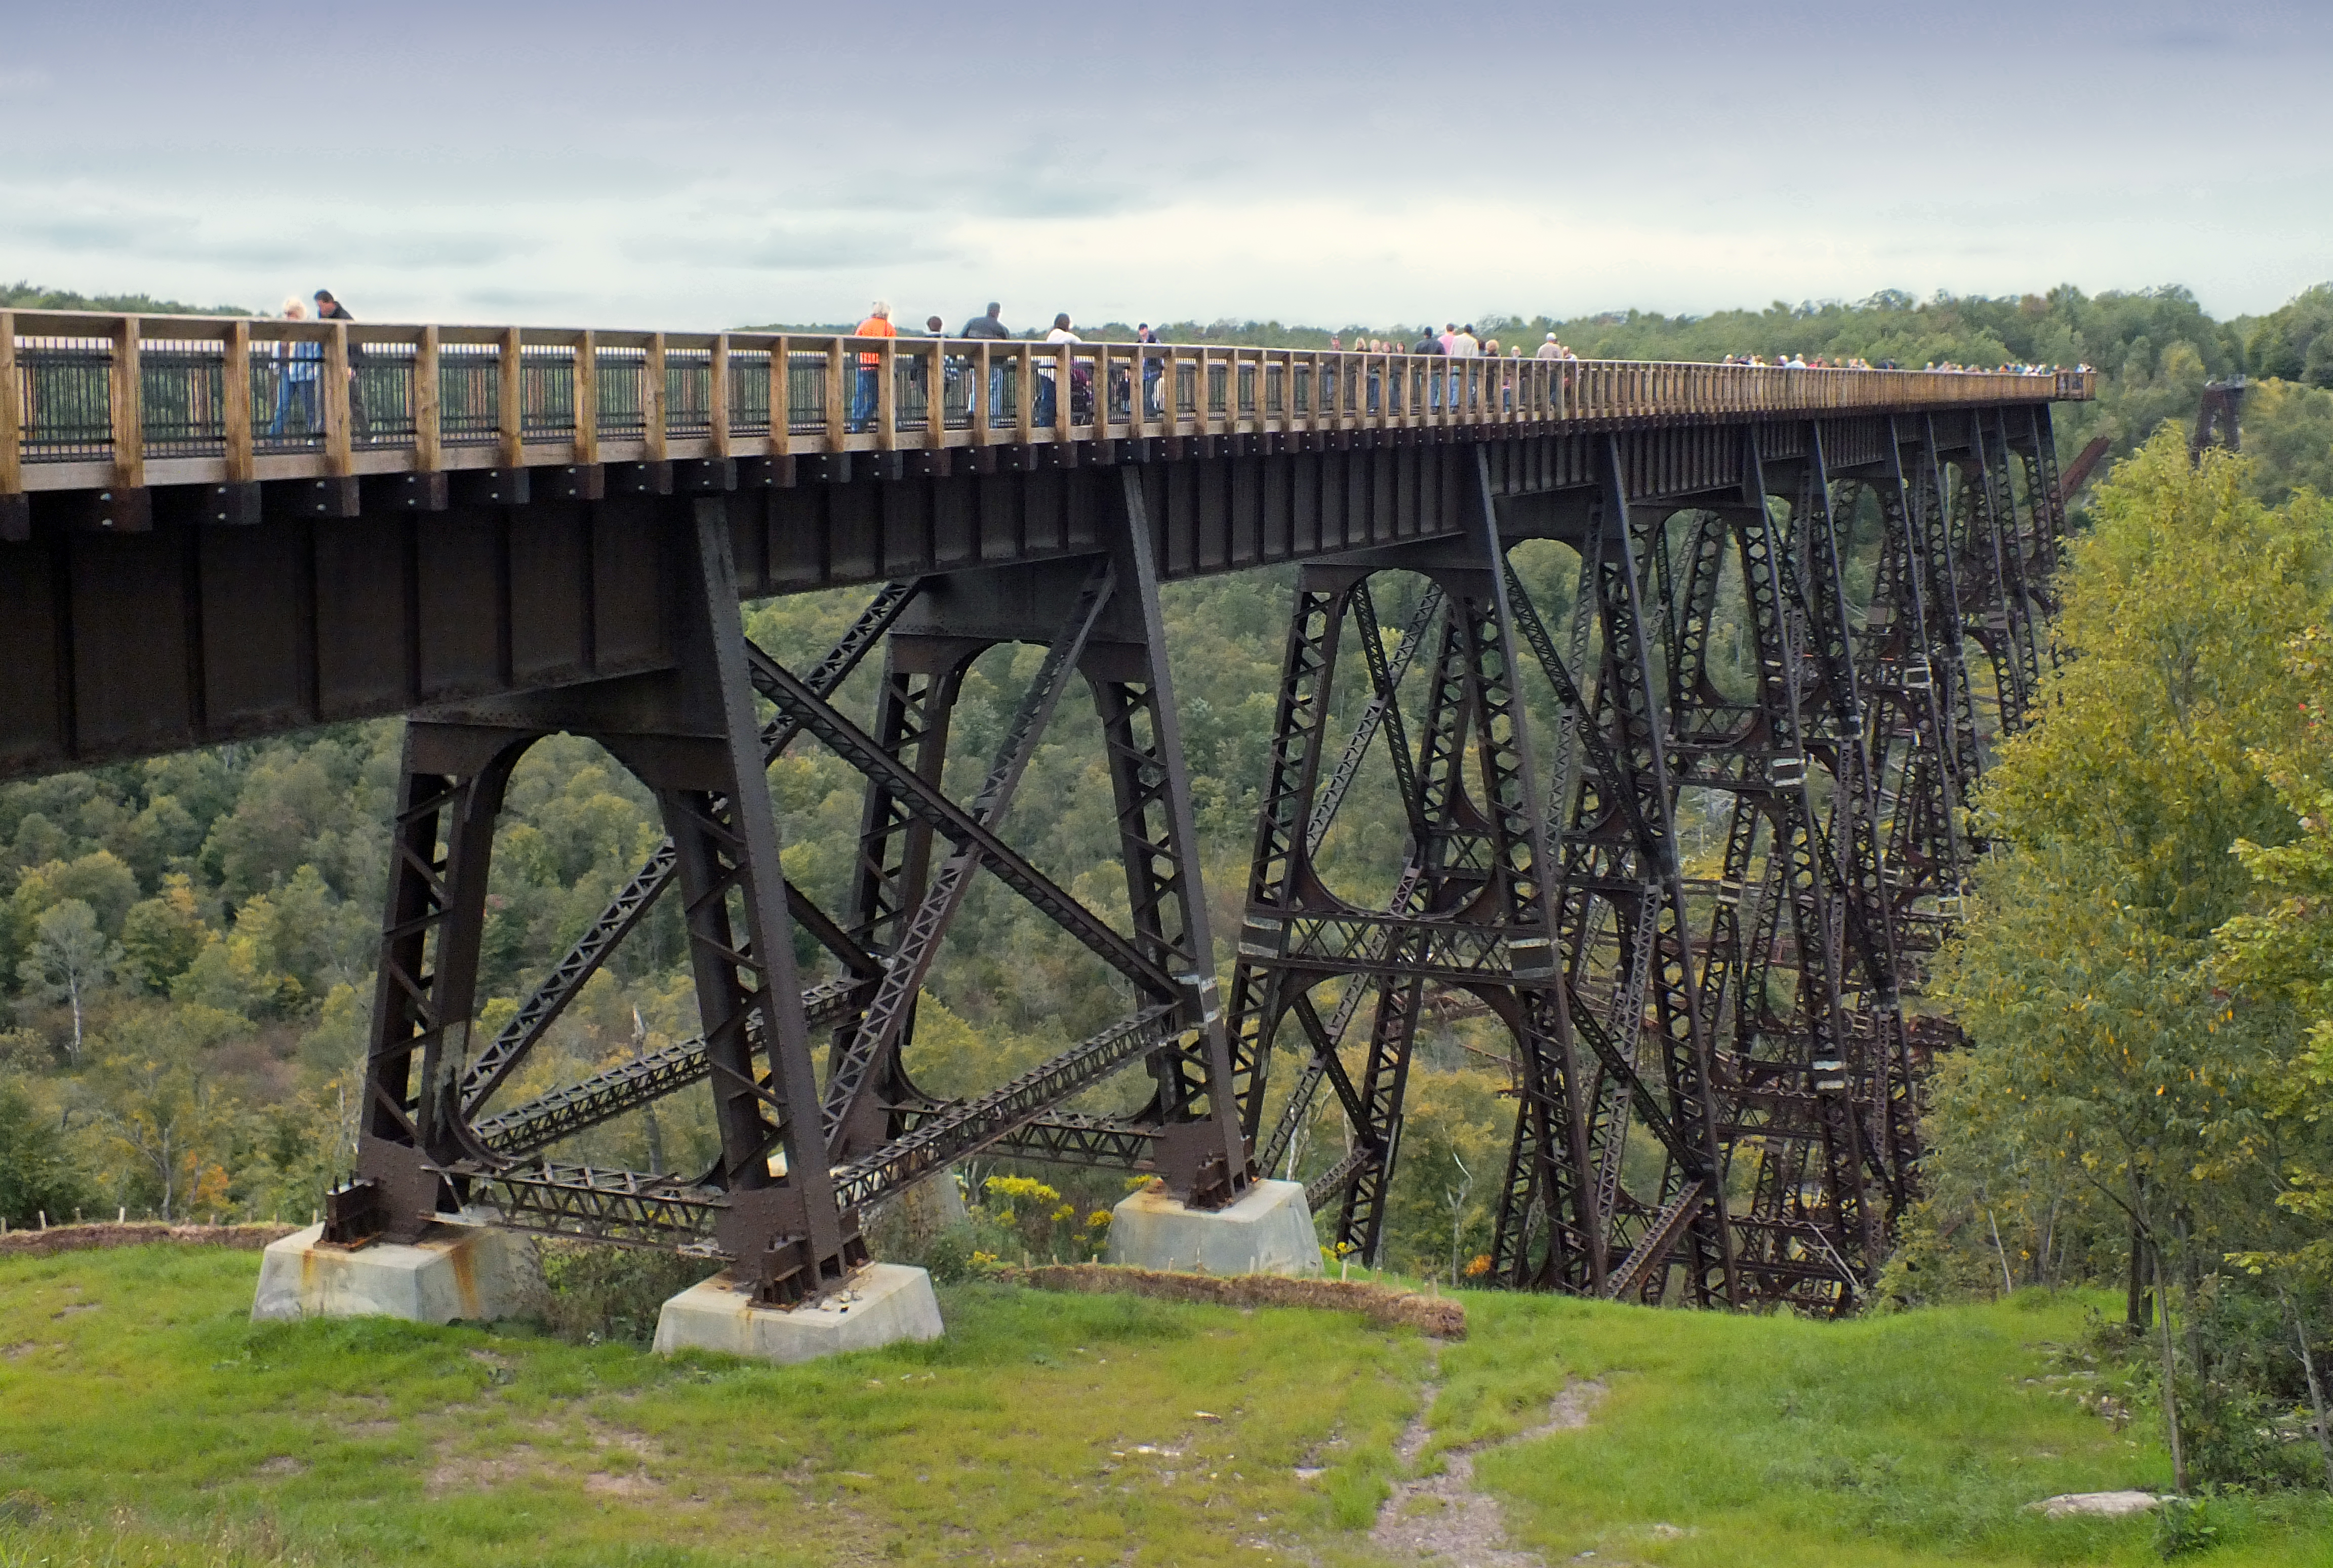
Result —
<instances>
[{"instance_id":1,"label":"yellow-green leafy tree at the right edge beside the bridge","mask_svg":"<svg viewBox=\"0 0 2333 1568\"><path fill-rule=\"evenodd\" d=\"M2261 1479L2263 1400L2298 1386L2277 1302L2300 1293L2303 1337L2333 1321L2303 1267L2333 1171L2310 1022L2333 884L2310 628L2333 604L2333 509L2254 488L2244 460L2191 464L2165 432L2114 469L2069 548L2062 663L1988 775L1995 854L1929 987L1969 1050L1932 1085L1908 1248L1929 1290L1981 1276L1988 1239L2004 1288L2121 1253L2132 1328L2163 1314L2156 1386L2202 1479Z\"/></svg>"}]
</instances>

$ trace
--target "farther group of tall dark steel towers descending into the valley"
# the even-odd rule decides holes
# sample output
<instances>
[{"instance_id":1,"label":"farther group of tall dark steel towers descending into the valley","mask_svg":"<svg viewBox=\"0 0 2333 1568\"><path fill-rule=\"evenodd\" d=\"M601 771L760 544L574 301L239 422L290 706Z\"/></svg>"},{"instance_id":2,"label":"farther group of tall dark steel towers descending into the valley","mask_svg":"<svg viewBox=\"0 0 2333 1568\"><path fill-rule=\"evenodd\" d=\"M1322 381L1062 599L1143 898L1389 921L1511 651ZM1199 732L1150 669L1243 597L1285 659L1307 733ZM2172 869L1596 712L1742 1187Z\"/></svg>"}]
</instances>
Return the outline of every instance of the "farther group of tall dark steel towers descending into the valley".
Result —
<instances>
[{"instance_id":1,"label":"farther group of tall dark steel towers descending into the valley","mask_svg":"<svg viewBox=\"0 0 2333 1568\"><path fill-rule=\"evenodd\" d=\"M1894 420L1883 450L1834 455L1820 429L1782 460L1752 443L1736 492L1642 504L1614 443L1551 530L1577 551L1554 628L1488 502L1465 544L1302 569L1232 1027L1248 1136L1290 1022L1304 1062L1264 1167L1323 1085L1344 1111L1351 1153L1311 1181L1339 1246L1379 1248L1439 987L1512 1041L1498 1283L1822 1311L1869 1286L1913 1199L1920 1073L1955 1038L1906 994L1981 849L1960 807L1985 744L2018 728L2048 660L2053 462L2046 411L1974 420L1953 450ZM1880 534L1862 604L1855 509ZM1430 583L1390 658L1383 572ZM1712 679L1722 586L1754 667L1743 693ZM1341 642L1369 700L1339 751ZM1547 737L1526 723L1533 674ZM1313 856L1376 737L1409 859L1383 905L1358 908ZM1722 807L1715 877L1684 875L1684 791ZM1624 1181L1631 1129L1659 1181Z\"/></svg>"}]
</instances>

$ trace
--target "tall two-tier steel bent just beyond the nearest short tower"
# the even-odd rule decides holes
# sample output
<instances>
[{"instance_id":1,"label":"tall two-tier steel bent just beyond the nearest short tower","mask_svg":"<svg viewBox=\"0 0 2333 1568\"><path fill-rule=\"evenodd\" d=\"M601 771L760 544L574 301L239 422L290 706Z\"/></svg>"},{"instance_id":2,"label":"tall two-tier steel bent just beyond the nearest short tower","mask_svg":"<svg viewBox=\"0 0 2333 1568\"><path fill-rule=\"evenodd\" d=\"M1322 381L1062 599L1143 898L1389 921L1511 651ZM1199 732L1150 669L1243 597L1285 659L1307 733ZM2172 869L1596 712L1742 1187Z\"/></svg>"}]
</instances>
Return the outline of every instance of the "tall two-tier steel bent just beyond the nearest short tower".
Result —
<instances>
[{"instance_id":1,"label":"tall two-tier steel bent just beyond the nearest short tower","mask_svg":"<svg viewBox=\"0 0 2333 1568\"><path fill-rule=\"evenodd\" d=\"M1257 821L1248 877L1248 917L1234 968L1234 1024L1248 1078L1248 1125L1260 1125L1264 1073L1281 1020L1295 1015L1309 1059L1267 1155L1278 1162L1320 1083L1353 1127L1353 1155L1311 1183L1316 1202L1339 1202L1339 1241L1374 1253L1383 1232L1383 1197L1400 1148L1400 1104L1425 980L1465 985L1516 1038L1528 1064L1533 1120L1558 1153L1530 1167L1533 1181L1561 1190L1551 1234L1556 1269L1600 1281L1600 1225L1591 1192L1568 1183L1584 1164L1570 1111L1570 1020L1549 947L1549 889L1556 859L1547 845L1547 803L1516 686L1519 611L1509 595L1505 551L1477 476L1479 537L1465 551L1374 553L1348 565L1306 569L1297 583L1283 660L1271 779ZM1397 705L1400 670L1376 637L1372 572L1423 572L1437 593L1435 658L1416 754ZM1339 639L1346 621L1360 639L1369 705L1360 735L1330 770L1327 714L1334 702ZM1425 625L1404 637L1404 653L1425 646ZM1313 854L1334 803L1369 740L1390 742L1395 791L1411 831L1409 868L1388 912L1355 910L1325 889ZM1311 989L1346 975L1334 1022L1323 1022ZM1339 1050L1365 996L1376 1006L1367 1055L1348 1071Z\"/></svg>"}]
</instances>

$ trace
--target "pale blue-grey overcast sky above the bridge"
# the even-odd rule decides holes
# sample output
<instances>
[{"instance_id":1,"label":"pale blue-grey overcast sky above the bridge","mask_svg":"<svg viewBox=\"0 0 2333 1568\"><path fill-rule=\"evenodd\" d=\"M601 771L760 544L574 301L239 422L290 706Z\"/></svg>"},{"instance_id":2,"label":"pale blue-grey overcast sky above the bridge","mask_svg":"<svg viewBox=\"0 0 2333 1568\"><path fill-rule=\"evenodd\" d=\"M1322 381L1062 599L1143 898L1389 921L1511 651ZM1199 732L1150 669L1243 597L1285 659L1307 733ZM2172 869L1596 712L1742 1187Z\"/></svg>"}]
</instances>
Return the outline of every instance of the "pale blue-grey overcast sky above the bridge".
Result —
<instances>
[{"instance_id":1,"label":"pale blue-grey overcast sky above the bridge","mask_svg":"<svg viewBox=\"0 0 2333 1568\"><path fill-rule=\"evenodd\" d=\"M2333 278L2333 5L0 0L0 280L1339 327Z\"/></svg>"}]
</instances>

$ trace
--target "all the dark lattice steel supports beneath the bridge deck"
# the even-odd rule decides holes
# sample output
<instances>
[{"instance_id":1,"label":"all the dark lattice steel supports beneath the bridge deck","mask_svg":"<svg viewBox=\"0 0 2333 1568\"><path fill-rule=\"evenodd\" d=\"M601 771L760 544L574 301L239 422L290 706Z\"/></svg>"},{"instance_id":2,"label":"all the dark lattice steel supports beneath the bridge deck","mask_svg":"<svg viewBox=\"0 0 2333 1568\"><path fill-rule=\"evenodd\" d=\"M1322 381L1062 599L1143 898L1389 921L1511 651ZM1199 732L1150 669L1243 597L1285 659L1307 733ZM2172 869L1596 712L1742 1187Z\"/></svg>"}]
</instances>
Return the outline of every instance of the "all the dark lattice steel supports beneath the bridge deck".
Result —
<instances>
[{"instance_id":1,"label":"all the dark lattice steel supports beneath the bridge deck","mask_svg":"<svg viewBox=\"0 0 2333 1568\"><path fill-rule=\"evenodd\" d=\"M1915 999L1983 847L1962 805L2051 660L2048 415L1913 413L1836 439L1820 420L1750 425L1722 483L1684 492L1645 488L1628 450L1603 436L1563 506L1533 511L1477 448L1460 520L1299 569L1229 1006L1166 684L1160 490L1139 467L1111 481L1083 553L903 576L807 672L735 635L728 530L698 502L670 544L688 588L672 672L481 700L408 733L359 1171L331 1195L334 1234L413 1234L469 1204L721 1258L784 1302L863 1258L866 1204L987 1150L1157 1171L1197 1204L1288 1169L1334 1209L1337 1241L1376 1255L1421 1029L1463 996L1507 1034L1516 1101L1495 1283L1850 1304L1913 1199L1918 1076L1953 1041ZM1526 539L1577 558L1558 625L1509 560ZM1409 616L1388 637L1395 576ZM940 786L952 709L1001 642L1045 658L957 803ZM863 728L845 681L877 644ZM1125 929L1001 835L1076 677L1113 782ZM670 838L471 1048L492 824L551 730L639 772ZM866 779L833 915L775 870L761 770L805 737ZM1362 779L1409 845L1390 889L1355 903L1318 866ZM1708 861L1682 849L1687 814L1724 828ZM915 1001L978 875L1083 943L1134 1006L1013 1083L938 1099L908 1073ZM497 1106L672 887L702 1034ZM793 926L826 966L807 982ZM1078 1108L1136 1064L1136 1111ZM558 1153L700 1085L721 1132L707 1171ZM1320 1118L1348 1153L1299 1169L1320 1167L1302 1160Z\"/></svg>"}]
</instances>

